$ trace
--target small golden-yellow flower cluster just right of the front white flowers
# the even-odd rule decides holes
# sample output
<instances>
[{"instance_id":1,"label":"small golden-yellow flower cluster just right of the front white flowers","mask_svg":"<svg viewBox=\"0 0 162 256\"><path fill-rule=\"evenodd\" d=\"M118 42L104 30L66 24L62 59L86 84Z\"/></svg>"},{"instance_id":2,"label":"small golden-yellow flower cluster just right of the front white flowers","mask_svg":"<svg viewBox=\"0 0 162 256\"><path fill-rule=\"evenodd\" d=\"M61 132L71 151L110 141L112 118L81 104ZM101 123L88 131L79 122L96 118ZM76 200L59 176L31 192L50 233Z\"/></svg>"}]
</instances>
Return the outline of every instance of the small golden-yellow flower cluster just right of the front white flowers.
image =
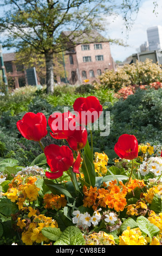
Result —
<instances>
[{"instance_id":1,"label":"small golden-yellow flower cluster just right of the front white flowers","mask_svg":"<svg viewBox=\"0 0 162 256\"><path fill-rule=\"evenodd\" d=\"M128 206L126 206L127 208L127 215L130 216L145 216L146 212L147 212L147 204L146 202L142 202L142 201L138 201L136 204L129 204Z\"/></svg>"}]
</instances>

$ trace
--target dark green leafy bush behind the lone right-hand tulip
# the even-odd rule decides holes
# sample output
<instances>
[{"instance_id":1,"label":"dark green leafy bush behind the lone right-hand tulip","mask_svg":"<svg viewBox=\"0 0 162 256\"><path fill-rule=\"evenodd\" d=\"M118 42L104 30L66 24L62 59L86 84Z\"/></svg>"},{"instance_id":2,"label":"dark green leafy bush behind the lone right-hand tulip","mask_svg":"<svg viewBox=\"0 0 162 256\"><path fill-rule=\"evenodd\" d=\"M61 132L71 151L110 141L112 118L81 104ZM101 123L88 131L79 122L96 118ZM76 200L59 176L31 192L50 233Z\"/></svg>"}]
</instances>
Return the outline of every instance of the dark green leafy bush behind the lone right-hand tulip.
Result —
<instances>
[{"instance_id":1,"label":"dark green leafy bush behind the lone right-hand tulip","mask_svg":"<svg viewBox=\"0 0 162 256\"><path fill-rule=\"evenodd\" d=\"M113 149L118 137L124 133L133 134L139 143L161 144L161 98L162 89L139 89L126 100L108 105L104 112L110 111L110 134L99 139L100 131L93 131L95 147Z\"/></svg>"}]
</instances>

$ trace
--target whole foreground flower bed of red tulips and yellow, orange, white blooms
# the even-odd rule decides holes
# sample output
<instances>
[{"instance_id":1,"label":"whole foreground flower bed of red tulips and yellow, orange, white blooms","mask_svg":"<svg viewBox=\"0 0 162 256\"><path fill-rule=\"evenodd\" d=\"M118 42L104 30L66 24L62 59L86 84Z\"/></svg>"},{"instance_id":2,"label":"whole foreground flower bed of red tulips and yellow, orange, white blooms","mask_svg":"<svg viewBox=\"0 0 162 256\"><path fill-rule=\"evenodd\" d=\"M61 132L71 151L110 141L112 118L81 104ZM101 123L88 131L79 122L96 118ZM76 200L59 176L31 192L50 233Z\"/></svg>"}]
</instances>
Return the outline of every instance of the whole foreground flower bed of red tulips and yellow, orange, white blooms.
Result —
<instances>
[{"instance_id":1,"label":"whole foreground flower bed of red tulips and yellow, orange, white blooms","mask_svg":"<svg viewBox=\"0 0 162 256\"><path fill-rule=\"evenodd\" d=\"M17 129L39 143L42 154L29 167L0 159L0 243L3 245L161 245L161 145L118 138L113 164L93 148L87 129L100 118L94 96L79 97L71 112L26 113ZM93 113L93 118L82 115ZM82 119L83 118L83 119ZM60 126L61 124L61 126ZM9 231L10 230L10 231Z\"/></svg>"}]
</instances>

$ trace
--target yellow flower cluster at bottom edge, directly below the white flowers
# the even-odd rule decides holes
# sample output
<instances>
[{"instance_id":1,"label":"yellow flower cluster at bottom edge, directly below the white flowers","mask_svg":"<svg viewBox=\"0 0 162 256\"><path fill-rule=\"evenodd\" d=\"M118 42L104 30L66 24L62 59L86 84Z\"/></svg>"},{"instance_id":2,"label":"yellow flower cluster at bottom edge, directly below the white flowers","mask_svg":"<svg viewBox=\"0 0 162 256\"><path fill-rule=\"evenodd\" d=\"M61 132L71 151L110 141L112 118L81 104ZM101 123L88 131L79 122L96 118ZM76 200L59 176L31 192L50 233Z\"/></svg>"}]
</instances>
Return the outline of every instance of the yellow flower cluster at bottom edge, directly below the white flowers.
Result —
<instances>
[{"instance_id":1,"label":"yellow flower cluster at bottom edge, directly below the white flowers","mask_svg":"<svg viewBox=\"0 0 162 256\"><path fill-rule=\"evenodd\" d=\"M109 235L104 231L92 233L85 236L86 245L115 245L113 235Z\"/></svg>"}]
</instances>

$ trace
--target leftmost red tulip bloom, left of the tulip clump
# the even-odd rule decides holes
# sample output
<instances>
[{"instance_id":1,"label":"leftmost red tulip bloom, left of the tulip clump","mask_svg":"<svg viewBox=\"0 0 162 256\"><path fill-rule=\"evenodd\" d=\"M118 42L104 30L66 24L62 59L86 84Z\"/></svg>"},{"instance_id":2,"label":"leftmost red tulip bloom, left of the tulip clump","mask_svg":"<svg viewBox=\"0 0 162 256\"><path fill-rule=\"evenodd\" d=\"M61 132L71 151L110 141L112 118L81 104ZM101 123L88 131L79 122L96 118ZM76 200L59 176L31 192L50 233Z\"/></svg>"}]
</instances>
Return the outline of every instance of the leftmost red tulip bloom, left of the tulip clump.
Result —
<instances>
[{"instance_id":1,"label":"leftmost red tulip bloom, left of the tulip clump","mask_svg":"<svg viewBox=\"0 0 162 256\"><path fill-rule=\"evenodd\" d=\"M30 141L41 141L47 135L47 120L43 113L26 113L22 120L17 121L17 129Z\"/></svg>"}]
</instances>

